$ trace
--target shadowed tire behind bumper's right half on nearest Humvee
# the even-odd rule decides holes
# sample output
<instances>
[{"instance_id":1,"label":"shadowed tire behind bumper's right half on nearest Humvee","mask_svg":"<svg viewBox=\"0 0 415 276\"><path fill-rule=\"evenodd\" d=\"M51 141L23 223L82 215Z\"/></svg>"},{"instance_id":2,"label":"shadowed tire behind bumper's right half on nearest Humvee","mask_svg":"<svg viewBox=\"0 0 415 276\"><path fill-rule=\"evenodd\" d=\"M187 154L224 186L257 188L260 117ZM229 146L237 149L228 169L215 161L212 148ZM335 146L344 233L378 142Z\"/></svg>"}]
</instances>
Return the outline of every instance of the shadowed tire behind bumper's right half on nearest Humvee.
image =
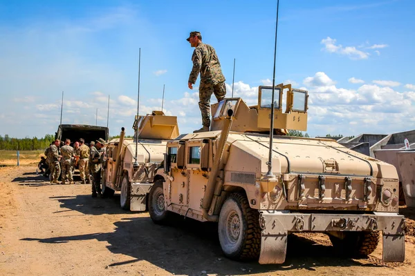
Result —
<instances>
[{"instance_id":1,"label":"shadowed tire behind bumper's right half on nearest Humvee","mask_svg":"<svg viewBox=\"0 0 415 276\"><path fill-rule=\"evenodd\" d=\"M344 232L344 239L329 235L331 244L341 255L365 257L374 252L380 231Z\"/></svg>"}]
</instances>

